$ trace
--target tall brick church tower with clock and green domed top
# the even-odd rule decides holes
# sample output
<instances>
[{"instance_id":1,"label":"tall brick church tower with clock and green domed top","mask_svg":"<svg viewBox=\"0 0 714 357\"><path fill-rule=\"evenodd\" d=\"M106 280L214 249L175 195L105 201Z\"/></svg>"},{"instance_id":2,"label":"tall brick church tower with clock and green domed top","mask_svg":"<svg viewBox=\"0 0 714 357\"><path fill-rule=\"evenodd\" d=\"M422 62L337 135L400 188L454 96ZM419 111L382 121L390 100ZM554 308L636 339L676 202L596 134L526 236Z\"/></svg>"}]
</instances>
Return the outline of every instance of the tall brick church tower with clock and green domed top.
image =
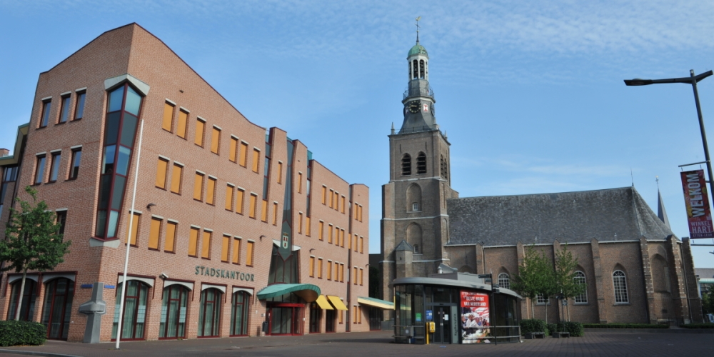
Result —
<instances>
[{"instance_id":1,"label":"tall brick church tower with clock and green domed top","mask_svg":"<svg viewBox=\"0 0 714 357\"><path fill-rule=\"evenodd\" d=\"M428 276L449 265L446 199L451 190L449 142L436 124L429 86L429 55L419 43L407 55L408 86L403 122L389 135L389 183L382 186L381 271L383 298L395 278Z\"/></svg>"}]
</instances>

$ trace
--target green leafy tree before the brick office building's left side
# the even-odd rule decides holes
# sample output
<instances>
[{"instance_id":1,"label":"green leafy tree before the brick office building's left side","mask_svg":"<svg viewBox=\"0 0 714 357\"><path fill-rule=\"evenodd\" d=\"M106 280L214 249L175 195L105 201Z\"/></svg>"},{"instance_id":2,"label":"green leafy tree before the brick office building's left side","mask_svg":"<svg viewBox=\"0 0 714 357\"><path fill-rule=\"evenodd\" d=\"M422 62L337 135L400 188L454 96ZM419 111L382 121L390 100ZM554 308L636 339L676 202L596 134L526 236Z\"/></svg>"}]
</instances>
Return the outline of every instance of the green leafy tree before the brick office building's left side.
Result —
<instances>
[{"instance_id":1,"label":"green leafy tree before the brick office building's left side","mask_svg":"<svg viewBox=\"0 0 714 357\"><path fill-rule=\"evenodd\" d=\"M25 191L32 197L32 202L15 198L21 211L10 208L10 219L5 228L5 240L0 241L0 261L7 266L2 271L14 269L22 272L20 296L25 289L27 271L48 271L64 261L69 252L71 241L62 241L59 233L60 224L56 215L47 210L45 201L37 201L37 191L27 186ZM15 320L20 318L22 299L18 299Z\"/></svg>"}]
</instances>

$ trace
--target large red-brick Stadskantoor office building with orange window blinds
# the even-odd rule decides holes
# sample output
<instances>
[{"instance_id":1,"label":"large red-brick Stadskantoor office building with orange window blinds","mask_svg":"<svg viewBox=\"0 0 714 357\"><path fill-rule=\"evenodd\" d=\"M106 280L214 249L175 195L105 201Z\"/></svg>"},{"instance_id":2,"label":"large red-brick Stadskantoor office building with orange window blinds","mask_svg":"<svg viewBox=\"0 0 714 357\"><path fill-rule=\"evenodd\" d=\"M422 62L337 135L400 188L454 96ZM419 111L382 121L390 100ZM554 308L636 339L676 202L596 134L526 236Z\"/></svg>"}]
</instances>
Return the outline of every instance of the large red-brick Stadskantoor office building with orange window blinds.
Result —
<instances>
[{"instance_id":1,"label":"large red-brick Stadskantoor office building with orange window blinds","mask_svg":"<svg viewBox=\"0 0 714 357\"><path fill-rule=\"evenodd\" d=\"M72 241L22 296L21 318L49 338L116 338L128 236L122 339L255 336L263 321L273 335L368 330L368 188L248 121L137 24L40 74L0 167L0 224L33 185ZM12 318L19 274L0 278ZM79 312L95 290L101 317Z\"/></svg>"}]
</instances>

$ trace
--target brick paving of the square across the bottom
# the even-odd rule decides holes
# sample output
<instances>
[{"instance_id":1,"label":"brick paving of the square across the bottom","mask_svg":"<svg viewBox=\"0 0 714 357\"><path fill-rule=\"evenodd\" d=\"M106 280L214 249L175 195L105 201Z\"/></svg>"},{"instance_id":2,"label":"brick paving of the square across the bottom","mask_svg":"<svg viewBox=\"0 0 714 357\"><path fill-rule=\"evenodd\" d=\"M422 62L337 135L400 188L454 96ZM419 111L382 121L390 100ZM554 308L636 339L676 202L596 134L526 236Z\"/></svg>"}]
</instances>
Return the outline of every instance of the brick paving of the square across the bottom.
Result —
<instances>
[{"instance_id":1,"label":"brick paving of the square across the bottom","mask_svg":"<svg viewBox=\"0 0 714 357\"><path fill-rule=\"evenodd\" d=\"M524 340L485 345L405 345L392 343L391 332L306 336L211 338L183 341L67 343L0 349L72 356L714 356L711 333L588 332L583 337Z\"/></svg>"}]
</instances>

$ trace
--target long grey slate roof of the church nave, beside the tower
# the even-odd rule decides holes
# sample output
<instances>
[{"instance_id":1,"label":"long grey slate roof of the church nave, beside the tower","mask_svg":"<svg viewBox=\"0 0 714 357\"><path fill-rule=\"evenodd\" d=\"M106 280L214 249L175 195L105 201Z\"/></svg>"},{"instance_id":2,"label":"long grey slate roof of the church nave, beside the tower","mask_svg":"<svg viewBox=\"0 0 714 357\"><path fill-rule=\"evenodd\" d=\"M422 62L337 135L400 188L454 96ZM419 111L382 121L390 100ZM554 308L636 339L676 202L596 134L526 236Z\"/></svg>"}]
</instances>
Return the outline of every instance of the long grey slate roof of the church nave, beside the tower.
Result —
<instances>
[{"instance_id":1,"label":"long grey slate roof of the church nave, beside the tower","mask_svg":"<svg viewBox=\"0 0 714 357\"><path fill-rule=\"evenodd\" d=\"M665 239L672 231L634 187L447 201L449 241L485 246Z\"/></svg>"}]
</instances>

